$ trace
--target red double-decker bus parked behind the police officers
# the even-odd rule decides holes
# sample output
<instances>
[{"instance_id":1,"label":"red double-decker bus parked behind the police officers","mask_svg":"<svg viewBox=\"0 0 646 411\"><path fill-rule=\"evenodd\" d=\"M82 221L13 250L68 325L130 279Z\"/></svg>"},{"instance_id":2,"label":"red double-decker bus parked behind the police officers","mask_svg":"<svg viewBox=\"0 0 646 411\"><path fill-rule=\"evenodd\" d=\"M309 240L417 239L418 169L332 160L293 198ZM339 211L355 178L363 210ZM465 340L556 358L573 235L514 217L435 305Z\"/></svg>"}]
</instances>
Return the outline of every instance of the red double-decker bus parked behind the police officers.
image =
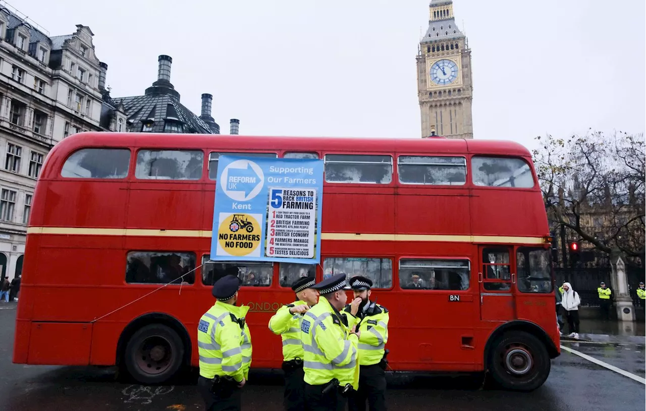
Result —
<instances>
[{"instance_id":1,"label":"red double-decker bus parked behind the police officers","mask_svg":"<svg viewBox=\"0 0 646 411\"><path fill-rule=\"evenodd\" d=\"M218 158L325 161L320 265L209 262ZM373 279L390 366L489 370L532 390L559 355L550 238L530 153L503 141L82 133L36 185L14 363L119 365L141 383L198 365L213 278L251 308L253 368L300 276Z\"/></svg>"}]
</instances>

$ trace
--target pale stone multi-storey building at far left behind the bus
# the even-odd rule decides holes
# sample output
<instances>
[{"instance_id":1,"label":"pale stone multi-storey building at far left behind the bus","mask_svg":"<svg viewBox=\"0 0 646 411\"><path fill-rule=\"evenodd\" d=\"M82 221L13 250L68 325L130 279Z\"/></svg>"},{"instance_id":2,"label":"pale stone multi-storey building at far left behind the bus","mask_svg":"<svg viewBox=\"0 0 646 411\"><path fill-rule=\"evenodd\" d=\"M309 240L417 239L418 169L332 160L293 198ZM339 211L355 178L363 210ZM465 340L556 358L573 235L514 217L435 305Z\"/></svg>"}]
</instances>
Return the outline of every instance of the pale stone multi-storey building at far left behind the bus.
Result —
<instances>
[{"instance_id":1,"label":"pale stone multi-storey building at far left behind the bus","mask_svg":"<svg viewBox=\"0 0 646 411\"><path fill-rule=\"evenodd\" d=\"M36 180L50 148L100 124L105 103L92 30L47 30L0 2L0 266L22 271L26 225ZM125 113L116 110L115 123Z\"/></svg>"}]
</instances>

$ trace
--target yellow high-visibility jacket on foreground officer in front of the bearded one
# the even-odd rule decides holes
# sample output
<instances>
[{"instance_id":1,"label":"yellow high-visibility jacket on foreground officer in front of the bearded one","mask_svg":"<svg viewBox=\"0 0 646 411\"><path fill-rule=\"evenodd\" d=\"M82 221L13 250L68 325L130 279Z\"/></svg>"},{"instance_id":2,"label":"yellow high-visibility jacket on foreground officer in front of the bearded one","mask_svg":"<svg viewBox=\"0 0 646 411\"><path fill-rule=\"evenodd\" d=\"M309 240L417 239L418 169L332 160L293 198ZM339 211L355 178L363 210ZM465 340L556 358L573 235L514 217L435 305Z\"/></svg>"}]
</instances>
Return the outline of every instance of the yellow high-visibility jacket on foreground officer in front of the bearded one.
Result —
<instances>
[{"instance_id":1,"label":"yellow high-visibility jacket on foreground officer in front of the bearded one","mask_svg":"<svg viewBox=\"0 0 646 411\"><path fill-rule=\"evenodd\" d=\"M333 378L344 386L359 388L356 334L349 334L340 313L324 297L306 312L300 323L303 343L303 370L309 385L323 385ZM354 317L348 323L355 321Z\"/></svg>"}]
</instances>

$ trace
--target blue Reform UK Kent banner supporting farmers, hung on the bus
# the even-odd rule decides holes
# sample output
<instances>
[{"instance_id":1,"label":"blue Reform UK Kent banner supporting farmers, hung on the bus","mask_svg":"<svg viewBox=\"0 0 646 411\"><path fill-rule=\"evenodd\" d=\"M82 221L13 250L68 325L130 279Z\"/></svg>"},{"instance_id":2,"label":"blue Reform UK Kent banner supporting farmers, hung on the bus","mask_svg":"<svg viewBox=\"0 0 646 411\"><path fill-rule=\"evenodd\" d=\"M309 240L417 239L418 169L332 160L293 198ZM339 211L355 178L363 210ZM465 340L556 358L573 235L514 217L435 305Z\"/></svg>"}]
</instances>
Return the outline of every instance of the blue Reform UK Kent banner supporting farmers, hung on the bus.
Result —
<instances>
[{"instance_id":1,"label":"blue Reform UK Kent banner supporting farmers, hung on the bus","mask_svg":"<svg viewBox=\"0 0 646 411\"><path fill-rule=\"evenodd\" d=\"M323 161L221 155L213 261L320 263Z\"/></svg>"}]
</instances>

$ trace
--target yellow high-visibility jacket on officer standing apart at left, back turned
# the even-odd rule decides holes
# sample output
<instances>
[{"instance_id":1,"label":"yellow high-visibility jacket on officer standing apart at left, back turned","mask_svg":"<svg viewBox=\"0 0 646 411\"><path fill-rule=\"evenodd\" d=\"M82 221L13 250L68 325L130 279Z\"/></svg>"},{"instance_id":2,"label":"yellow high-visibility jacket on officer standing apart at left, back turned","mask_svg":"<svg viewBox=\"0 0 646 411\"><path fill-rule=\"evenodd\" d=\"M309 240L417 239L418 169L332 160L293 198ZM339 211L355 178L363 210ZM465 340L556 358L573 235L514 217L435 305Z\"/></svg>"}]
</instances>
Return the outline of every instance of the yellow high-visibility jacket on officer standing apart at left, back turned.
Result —
<instances>
[{"instance_id":1,"label":"yellow high-visibility jacket on officer standing apart at left, back turned","mask_svg":"<svg viewBox=\"0 0 646 411\"><path fill-rule=\"evenodd\" d=\"M198 324L200 376L231 376L236 381L249 377L251 333L244 321L249 306L216 302Z\"/></svg>"}]
</instances>

